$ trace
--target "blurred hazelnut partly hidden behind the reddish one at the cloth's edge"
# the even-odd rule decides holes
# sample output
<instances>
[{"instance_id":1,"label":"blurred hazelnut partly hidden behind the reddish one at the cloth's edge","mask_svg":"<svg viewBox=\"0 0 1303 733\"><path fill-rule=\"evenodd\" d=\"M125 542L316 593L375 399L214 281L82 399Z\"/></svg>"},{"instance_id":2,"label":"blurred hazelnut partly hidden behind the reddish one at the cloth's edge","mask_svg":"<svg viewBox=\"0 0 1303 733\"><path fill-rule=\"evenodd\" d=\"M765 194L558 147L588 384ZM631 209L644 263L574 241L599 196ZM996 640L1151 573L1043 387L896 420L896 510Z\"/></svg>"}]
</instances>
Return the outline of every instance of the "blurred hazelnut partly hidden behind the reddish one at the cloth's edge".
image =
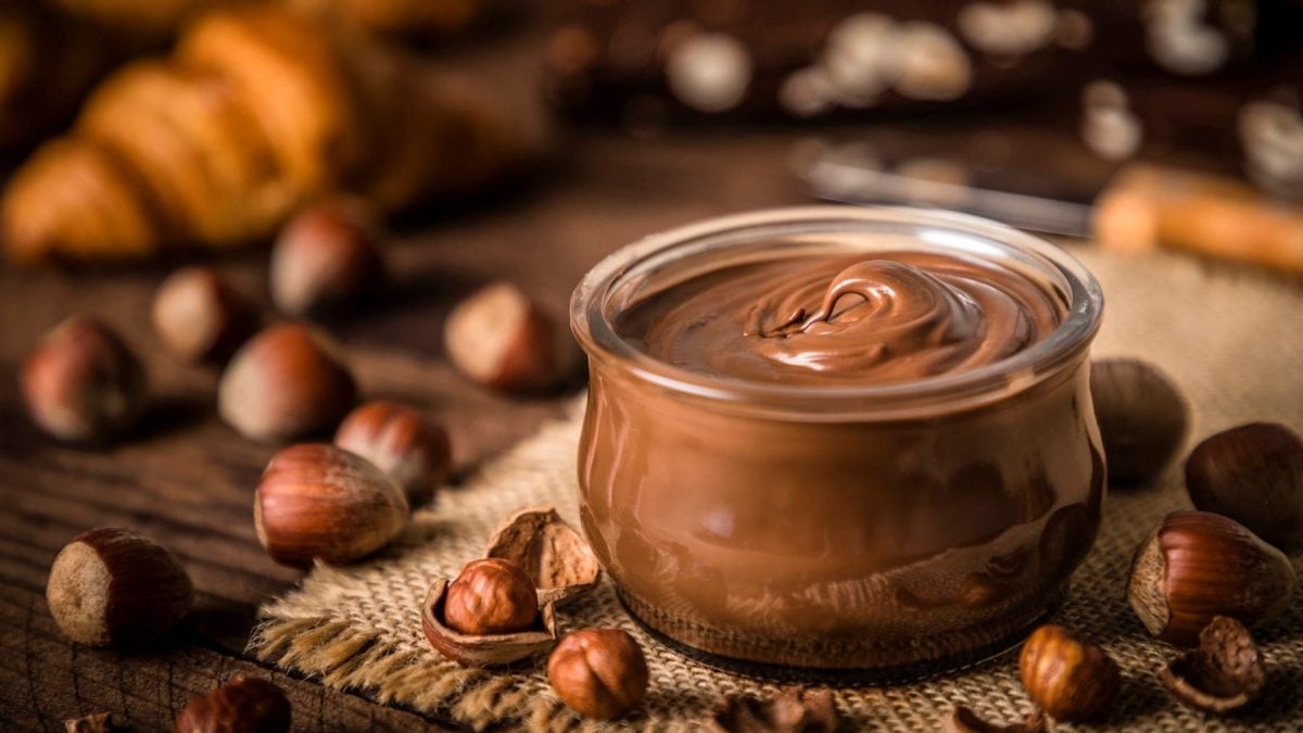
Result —
<instances>
[{"instance_id":1,"label":"blurred hazelnut partly hidden behind the reddish one at the cloth's edge","mask_svg":"<svg viewBox=\"0 0 1303 733\"><path fill-rule=\"evenodd\" d=\"M335 432L335 445L388 473L410 506L430 501L452 468L447 430L392 402L367 402L349 412Z\"/></svg>"}]
</instances>

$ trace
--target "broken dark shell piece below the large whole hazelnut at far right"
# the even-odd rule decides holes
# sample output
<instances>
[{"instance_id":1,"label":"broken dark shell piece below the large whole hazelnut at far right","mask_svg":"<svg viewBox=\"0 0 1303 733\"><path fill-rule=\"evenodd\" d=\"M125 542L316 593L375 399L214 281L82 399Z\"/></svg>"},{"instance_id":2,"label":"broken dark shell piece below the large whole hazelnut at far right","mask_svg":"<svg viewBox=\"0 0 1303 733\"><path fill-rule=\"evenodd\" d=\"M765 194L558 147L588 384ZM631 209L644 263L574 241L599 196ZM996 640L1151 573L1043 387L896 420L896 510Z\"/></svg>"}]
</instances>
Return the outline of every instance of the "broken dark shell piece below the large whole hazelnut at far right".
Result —
<instances>
[{"instance_id":1,"label":"broken dark shell piece below the large whole hazelnut at far right","mask_svg":"<svg viewBox=\"0 0 1303 733\"><path fill-rule=\"evenodd\" d=\"M1199 633L1199 648L1162 668L1171 694L1204 712L1244 707L1259 693L1267 673L1253 636L1234 618L1217 616Z\"/></svg>"}]
</instances>

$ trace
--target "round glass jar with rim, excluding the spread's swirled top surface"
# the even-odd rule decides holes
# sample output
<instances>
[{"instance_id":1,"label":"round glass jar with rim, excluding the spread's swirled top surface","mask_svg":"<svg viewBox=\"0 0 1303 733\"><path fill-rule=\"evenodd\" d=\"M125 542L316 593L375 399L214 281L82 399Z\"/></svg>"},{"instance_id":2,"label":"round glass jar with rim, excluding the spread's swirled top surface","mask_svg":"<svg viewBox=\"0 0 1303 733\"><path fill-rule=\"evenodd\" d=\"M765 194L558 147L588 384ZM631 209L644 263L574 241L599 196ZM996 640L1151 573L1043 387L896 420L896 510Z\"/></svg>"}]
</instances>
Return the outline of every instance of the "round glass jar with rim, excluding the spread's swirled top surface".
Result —
<instances>
[{"instance_id":1,"label":"round glass jar with rim, excluding the spread's swirled top surface","mask_svg":"<svg viewBox=\"0 0 1303 733\"><path fill-rule=\"evenodd\" d=\"M1002 361L852 386L689 372L616 333L622 313L719 267L885 250L997 262L1049 293L1061 323ZM899 670L998 651L1095 540L1102 308L1062 249L950 213L778 209L631 244L571 301L590 372L584 531L632 614L708 656Z\"/></svg>"}]
</instances>

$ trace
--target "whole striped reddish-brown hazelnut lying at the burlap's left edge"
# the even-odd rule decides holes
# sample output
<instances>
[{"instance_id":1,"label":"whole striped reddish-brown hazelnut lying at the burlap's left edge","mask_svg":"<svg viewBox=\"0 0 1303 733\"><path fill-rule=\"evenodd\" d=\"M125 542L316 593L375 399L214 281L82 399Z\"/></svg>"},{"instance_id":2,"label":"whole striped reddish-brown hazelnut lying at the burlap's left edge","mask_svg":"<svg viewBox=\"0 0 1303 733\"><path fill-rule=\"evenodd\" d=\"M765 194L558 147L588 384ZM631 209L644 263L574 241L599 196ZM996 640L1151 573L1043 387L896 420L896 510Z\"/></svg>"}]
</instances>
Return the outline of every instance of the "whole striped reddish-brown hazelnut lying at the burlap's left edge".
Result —
<instances>
[{"instance_id":1,"label":"whole striped reddish-brown hazelnut lying at the burlap's left edge","mask_svg":"<svg viewBox=\"0 0 1303 733\"><path fill-rule=\"evenodd\" d=\"M284 565L344 565L380 549L407 523L403 489L364 458L326 443L272 456L254 496L258 541Z\"/></svg>"}]
</instances>

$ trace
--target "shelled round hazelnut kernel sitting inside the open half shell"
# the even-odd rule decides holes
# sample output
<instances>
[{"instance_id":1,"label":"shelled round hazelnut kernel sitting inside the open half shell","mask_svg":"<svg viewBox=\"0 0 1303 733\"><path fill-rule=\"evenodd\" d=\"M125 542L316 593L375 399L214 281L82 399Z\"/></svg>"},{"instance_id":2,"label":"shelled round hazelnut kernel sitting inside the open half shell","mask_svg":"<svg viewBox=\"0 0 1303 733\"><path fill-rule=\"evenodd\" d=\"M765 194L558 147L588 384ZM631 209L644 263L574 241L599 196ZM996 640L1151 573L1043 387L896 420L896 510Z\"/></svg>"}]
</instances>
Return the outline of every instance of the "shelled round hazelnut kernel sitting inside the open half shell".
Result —
<instances>
[{"instance_id":1,"label":"shelled round hazelnut kernel sitting inside the open half shell","mask_svg":"<svg viewBox=\"0 0 1303 733\"><path fill-rule=\"evenodd\" d=\"M534 582L509 560L474 560L448 586L443 617L461 634L507 634L538 617Z\"/></svg>"}]
</instances>

